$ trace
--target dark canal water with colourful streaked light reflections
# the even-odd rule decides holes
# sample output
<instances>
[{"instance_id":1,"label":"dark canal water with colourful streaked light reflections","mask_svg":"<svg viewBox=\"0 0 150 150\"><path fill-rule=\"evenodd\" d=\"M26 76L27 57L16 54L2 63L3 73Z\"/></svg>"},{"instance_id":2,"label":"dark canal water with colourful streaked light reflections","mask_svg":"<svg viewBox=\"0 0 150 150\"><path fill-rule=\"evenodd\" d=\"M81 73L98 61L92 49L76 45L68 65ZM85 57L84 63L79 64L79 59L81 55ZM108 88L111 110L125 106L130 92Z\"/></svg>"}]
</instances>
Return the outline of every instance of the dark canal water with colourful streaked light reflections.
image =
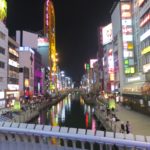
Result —
<instances>
[{"instance_id":1,"label":"dark canal water with colourful streaked light reflections","mask_svg":"<svg viewBox=\"0 0 150 150\"><path fill-rule=\"evenodd\" d=\"M69 94L63 101L43 110L36 123L96 130L94 108L85 104L81 97Z\"/></svg>"}]
</instances>

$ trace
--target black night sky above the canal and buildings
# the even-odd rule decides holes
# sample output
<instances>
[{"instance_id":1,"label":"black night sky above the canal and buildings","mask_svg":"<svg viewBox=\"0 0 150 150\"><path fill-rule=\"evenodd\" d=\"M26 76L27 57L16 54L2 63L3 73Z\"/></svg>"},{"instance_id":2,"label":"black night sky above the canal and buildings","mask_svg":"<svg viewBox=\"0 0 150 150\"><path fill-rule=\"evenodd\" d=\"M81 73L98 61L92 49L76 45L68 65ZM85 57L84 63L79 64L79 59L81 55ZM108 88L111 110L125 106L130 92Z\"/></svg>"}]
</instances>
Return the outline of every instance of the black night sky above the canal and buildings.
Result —
<instances>
[{"instance_id":1,"label":"black night sky above the canal and buildings","mask_svg":"<svg viewBox=\"0 0 150 150\"><path fill-rule=\"evenodd\" d=\"M10 36L16 30L38 32L43 29L44 0L7 0L7 27ZM79 82L84 63L96 57L97 28L110 23L114 0L54 0L56 48L59 66Z\"/></svg>"}]
</instances>

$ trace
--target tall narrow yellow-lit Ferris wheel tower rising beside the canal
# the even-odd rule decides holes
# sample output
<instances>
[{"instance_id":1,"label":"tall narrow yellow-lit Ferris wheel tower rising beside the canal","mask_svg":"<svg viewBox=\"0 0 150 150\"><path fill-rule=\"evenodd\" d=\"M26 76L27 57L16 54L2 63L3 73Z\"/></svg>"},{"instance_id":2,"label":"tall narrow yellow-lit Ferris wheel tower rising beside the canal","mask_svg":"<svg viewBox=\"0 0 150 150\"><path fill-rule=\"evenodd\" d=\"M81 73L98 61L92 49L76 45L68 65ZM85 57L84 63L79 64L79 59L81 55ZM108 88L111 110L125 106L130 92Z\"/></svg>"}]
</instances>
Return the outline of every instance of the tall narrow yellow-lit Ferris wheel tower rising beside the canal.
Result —
<instances>
[{"instance_id":1,"label":"tall narrow yellow-lit Ferris wheel tower rising beside the canal","mask_svg":"<svg viewBox=\"0 0 150 150\"><path fill-rule=\"evenodd\" d=\"M44 5L44 34L49 39L49 67L50 67L50 91L57 86L57 58L55 42L55 12L51 0L46 0Z\"/></svg>"}]
</instances>

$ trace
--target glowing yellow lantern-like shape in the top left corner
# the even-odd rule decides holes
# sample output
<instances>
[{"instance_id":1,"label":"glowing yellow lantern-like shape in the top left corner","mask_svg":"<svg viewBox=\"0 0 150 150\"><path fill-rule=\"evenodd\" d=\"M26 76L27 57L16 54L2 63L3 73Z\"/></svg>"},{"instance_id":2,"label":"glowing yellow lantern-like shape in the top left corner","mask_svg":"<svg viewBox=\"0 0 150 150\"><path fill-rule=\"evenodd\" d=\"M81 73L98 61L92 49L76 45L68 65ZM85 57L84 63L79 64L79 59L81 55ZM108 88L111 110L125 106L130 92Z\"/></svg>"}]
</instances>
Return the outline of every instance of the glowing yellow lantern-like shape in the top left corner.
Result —
<instances>
[{"instance_id":1,"label":"glowing yellow lantern-like shape in the top left corner","mask_svg":"<svg viewBox=\"0 0 150 150\"><path fill-rule=\"evenodd\" d=\"M7 15L6 0L0 0L0 20L4 20Z\"/></svg>"}]
</instances>

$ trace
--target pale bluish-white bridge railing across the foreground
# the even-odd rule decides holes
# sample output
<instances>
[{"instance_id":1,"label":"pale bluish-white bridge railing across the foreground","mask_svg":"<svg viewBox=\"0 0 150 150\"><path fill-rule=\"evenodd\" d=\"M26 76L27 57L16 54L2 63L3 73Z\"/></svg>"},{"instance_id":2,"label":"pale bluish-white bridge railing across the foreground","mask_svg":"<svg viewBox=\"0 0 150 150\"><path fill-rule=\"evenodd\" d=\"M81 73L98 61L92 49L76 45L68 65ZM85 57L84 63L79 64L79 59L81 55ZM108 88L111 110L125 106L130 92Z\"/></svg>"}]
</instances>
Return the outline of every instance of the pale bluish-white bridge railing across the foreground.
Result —
<instances>
[{"instance_id":1,"label":"pale bluish-white bridge railing across the foreground","mask_svg":"<svg viewBox=\"0 0 150 150\"><path fill-rule=\"evenodd\" d=\"M79 144L80 143L80 144ZM88 146L87 147L87 144ZM150 136L93 131L68 127L52 127L26 123L0 122L1 150L75 150L90 149L94 146L109 150L150 149Z\"/></svg>"}]
</instances>

